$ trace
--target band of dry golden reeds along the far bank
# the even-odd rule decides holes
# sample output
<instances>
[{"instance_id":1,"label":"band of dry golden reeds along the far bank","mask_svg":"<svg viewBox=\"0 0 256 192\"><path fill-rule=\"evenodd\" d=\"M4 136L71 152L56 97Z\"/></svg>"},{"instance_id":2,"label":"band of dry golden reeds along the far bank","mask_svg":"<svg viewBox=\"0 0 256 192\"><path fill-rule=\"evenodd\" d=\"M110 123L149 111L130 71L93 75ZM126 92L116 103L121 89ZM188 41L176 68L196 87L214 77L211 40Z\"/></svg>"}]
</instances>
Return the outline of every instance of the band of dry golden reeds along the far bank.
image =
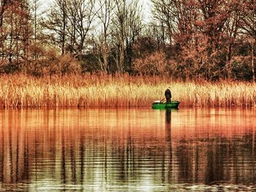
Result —
<instances>
[{"instance_id":1,"label":"band of dry golden reeds along the far bank","mask_svg":"<svg viewBox=\"0 0 256 192\"><path fill-rule=\"evenodd\" d=\"M0 78L0 107L150 107L169 86L182 106L256 105L256 84L249 82L171 82L126 74Z\"/></svg>"}]
</instances>

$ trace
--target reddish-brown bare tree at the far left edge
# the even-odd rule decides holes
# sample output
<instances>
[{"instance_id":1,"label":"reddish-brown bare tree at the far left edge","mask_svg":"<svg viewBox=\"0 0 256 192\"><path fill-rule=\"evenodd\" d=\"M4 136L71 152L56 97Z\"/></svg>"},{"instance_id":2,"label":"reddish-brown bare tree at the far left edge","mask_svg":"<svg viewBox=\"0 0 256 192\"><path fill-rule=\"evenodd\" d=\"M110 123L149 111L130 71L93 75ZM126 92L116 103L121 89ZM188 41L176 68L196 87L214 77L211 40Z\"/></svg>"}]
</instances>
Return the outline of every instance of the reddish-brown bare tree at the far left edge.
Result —
<instances>
[{"instance_id":1,"label":"reddish-brown bare tree at the far left edge","mask_svg":"<svg viewBox=\"0 0 256 192\"><path fill-rule=\"evenodd\" d=\"M8 59L9 64L18 69L20 58L26 60L31 37L29 3L12 0L2 5L5 7L1 15L2 59Z\"/></svg>"}]
</instances>

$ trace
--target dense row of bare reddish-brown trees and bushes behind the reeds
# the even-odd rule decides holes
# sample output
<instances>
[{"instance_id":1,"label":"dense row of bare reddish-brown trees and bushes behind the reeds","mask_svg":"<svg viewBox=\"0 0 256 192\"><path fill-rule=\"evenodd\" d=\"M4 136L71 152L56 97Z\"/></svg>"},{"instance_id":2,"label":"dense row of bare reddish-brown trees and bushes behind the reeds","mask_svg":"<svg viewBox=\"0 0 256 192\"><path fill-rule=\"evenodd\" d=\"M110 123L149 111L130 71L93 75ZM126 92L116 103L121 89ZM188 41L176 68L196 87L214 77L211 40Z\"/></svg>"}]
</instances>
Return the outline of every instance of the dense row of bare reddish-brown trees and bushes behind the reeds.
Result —
<instances>
[{"instance_id":1,"label":"dense row of bare reddish-brown trees and bushes behind the reeds","mask_svg":"<svg viewBox=\"0 0 256 192\"><path fill-rule=\"evenodd\" d=\"M255 81L256 0L0 1L1 73Z\"/></svg>"}]
</instances>

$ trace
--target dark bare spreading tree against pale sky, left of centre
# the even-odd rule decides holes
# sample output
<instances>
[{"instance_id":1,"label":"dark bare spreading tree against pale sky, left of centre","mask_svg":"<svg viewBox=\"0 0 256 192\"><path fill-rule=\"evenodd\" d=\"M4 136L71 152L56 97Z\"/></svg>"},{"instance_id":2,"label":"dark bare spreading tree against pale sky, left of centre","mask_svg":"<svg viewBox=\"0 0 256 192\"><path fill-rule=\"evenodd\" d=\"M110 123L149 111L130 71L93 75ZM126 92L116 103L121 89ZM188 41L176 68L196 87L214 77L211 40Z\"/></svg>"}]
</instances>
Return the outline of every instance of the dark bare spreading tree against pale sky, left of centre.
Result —
<instances>
[{"instance_id":1,"label":"dark bare spreading tree against pale sky, left of centre","mask_svg":"<svg viewBox=\"0 0 256 192\"><path fill-rule=\"evenodd\" d=\"M96 12L95 0L55 0L43 26L48 39L61 48L61 54L82 55L86 38L91 30Z\"/></svg>"}]
</instances>

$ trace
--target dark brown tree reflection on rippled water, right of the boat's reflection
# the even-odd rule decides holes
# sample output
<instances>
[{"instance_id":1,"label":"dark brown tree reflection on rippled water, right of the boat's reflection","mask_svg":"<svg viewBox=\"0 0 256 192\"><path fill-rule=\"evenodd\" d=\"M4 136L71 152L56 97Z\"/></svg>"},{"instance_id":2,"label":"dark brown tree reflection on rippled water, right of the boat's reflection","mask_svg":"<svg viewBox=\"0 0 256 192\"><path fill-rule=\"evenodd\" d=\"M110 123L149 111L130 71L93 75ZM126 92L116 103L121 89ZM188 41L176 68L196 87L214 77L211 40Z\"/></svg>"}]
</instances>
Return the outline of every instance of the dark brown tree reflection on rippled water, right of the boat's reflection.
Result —
<instances>
[{"instance_id":1,"label":"dark brown tree reflection on rippled water, right of the boat's reflection","mask_svg":"<svg viewBox=\"0 0 256 192\"><path fill-rule=\"evenodd\" d=\"M180 140L173 147L180 182L255 184L255 137L252 134ZM246 142L245 142L246 141ZM253 150L252 150L253 149Z\"/></svg>"}]
</instances>

